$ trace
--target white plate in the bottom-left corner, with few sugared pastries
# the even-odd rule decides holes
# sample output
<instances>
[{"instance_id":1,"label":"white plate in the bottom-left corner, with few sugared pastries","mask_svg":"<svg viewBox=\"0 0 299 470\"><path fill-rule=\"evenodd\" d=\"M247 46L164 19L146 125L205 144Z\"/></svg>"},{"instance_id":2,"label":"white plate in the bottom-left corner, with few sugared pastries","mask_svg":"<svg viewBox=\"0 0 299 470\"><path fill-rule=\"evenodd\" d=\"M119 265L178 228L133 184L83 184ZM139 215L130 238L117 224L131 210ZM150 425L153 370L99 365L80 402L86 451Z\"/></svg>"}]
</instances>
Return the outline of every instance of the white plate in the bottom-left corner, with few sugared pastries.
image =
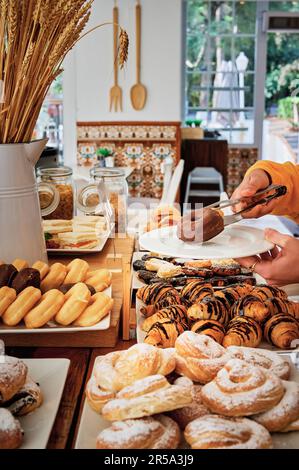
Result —
<instances>
[{"instance_id":1,"label":"white plate in the bottom-left corner, with few sugared pastries","mask_svg":"<svg viewBox=\"0 0 299 470\"><path fill-rule=\"evenodd\" d=\"M38 382L43 403L33 413L20 417L24 430L21 449L45 449L59 408L66 381L69 359L23 359L30 376Z\"/></svg>"}]
</instances>

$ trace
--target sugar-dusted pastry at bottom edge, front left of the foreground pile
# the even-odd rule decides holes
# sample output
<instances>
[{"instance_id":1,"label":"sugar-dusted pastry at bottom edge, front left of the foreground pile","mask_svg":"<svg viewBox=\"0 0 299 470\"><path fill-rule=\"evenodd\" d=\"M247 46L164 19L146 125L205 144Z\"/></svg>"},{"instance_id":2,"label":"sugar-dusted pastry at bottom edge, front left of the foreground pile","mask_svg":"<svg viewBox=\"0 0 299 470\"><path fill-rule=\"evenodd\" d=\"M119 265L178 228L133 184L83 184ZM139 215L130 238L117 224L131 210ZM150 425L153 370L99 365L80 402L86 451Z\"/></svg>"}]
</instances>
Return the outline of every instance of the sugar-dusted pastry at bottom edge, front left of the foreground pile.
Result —
<instances>
[{"instance_id":1,"label":"sugar-dusted pastry at bottom edge, front left of the foreground pile","mask_svg":"<svg viewBox=\"0 0 299 470\"><path fill-rule=\"evenodd\" d=\"M180 430L175 421L157 415L127 421L115 421L104 429L96 442L97 449L176 449Z\"/></svg>"}]
</instances>

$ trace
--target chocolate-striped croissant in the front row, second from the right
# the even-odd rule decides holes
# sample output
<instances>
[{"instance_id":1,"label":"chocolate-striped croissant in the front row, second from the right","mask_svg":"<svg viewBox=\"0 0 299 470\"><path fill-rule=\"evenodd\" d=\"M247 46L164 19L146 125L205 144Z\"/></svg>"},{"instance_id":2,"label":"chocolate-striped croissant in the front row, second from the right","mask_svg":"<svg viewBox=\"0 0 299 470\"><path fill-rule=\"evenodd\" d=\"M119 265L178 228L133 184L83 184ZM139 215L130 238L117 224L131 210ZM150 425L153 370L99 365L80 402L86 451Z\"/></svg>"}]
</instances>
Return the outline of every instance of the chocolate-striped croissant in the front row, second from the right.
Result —
<instances>
[{"instance_id":1,"label":"chocolate-striped croissant in the front row, second from the right","mask_svg":"<svg viewBox=\"0 0 299 470\"><path fill-rule=\"evenodd\" d=\"M248 346L256 348L262 340L262 329L260 325L249 317L235 317L227 327L226 335L222 345L228 346Z\"/></svg>"}]
</instances>

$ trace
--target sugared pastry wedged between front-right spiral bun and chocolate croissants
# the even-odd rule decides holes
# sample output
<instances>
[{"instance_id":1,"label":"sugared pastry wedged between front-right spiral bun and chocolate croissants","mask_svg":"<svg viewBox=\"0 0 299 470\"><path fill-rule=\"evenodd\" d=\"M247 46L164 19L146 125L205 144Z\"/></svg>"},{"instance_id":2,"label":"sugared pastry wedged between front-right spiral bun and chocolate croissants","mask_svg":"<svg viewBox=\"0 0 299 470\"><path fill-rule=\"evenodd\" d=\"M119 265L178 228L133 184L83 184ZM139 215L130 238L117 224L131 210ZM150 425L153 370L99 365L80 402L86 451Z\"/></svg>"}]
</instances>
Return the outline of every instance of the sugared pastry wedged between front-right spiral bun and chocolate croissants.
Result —
<instances>
[{"instance_id":1,"label":"sugared pastry wedged between front-right spiral bun and chocolate croissants","mask_svg":"<svg viewBox=\"0 0 299 470\"><path fill-rule=\"evenodd\" d=\"M289 361L274 351L258 348L244 348L242 346L229 346L227 351L232 358L241 359L255 366L268 369L281 379L288 380L290 376L291 367Z\"/></svg>"}]
</instances>

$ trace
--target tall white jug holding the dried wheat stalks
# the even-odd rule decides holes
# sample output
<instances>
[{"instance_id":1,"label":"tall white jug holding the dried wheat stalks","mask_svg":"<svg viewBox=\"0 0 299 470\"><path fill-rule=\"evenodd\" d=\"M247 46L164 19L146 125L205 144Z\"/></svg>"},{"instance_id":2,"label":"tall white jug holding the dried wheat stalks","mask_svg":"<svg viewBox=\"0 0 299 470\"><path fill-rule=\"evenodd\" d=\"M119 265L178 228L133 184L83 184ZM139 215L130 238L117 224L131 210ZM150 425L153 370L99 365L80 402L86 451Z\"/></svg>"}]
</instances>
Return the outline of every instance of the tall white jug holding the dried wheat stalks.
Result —
<instances>
[{"instance_id":1,"label":"tall white jug holding the dried wheat stalks","mask_svg":"<svg viewBox=\"0 0 299 470\"><path fill-rule=\"evenodd\" d=\"M0 145L0 260L47 261L35 164L47 140Z\"/></svg>"}]
</instances>

